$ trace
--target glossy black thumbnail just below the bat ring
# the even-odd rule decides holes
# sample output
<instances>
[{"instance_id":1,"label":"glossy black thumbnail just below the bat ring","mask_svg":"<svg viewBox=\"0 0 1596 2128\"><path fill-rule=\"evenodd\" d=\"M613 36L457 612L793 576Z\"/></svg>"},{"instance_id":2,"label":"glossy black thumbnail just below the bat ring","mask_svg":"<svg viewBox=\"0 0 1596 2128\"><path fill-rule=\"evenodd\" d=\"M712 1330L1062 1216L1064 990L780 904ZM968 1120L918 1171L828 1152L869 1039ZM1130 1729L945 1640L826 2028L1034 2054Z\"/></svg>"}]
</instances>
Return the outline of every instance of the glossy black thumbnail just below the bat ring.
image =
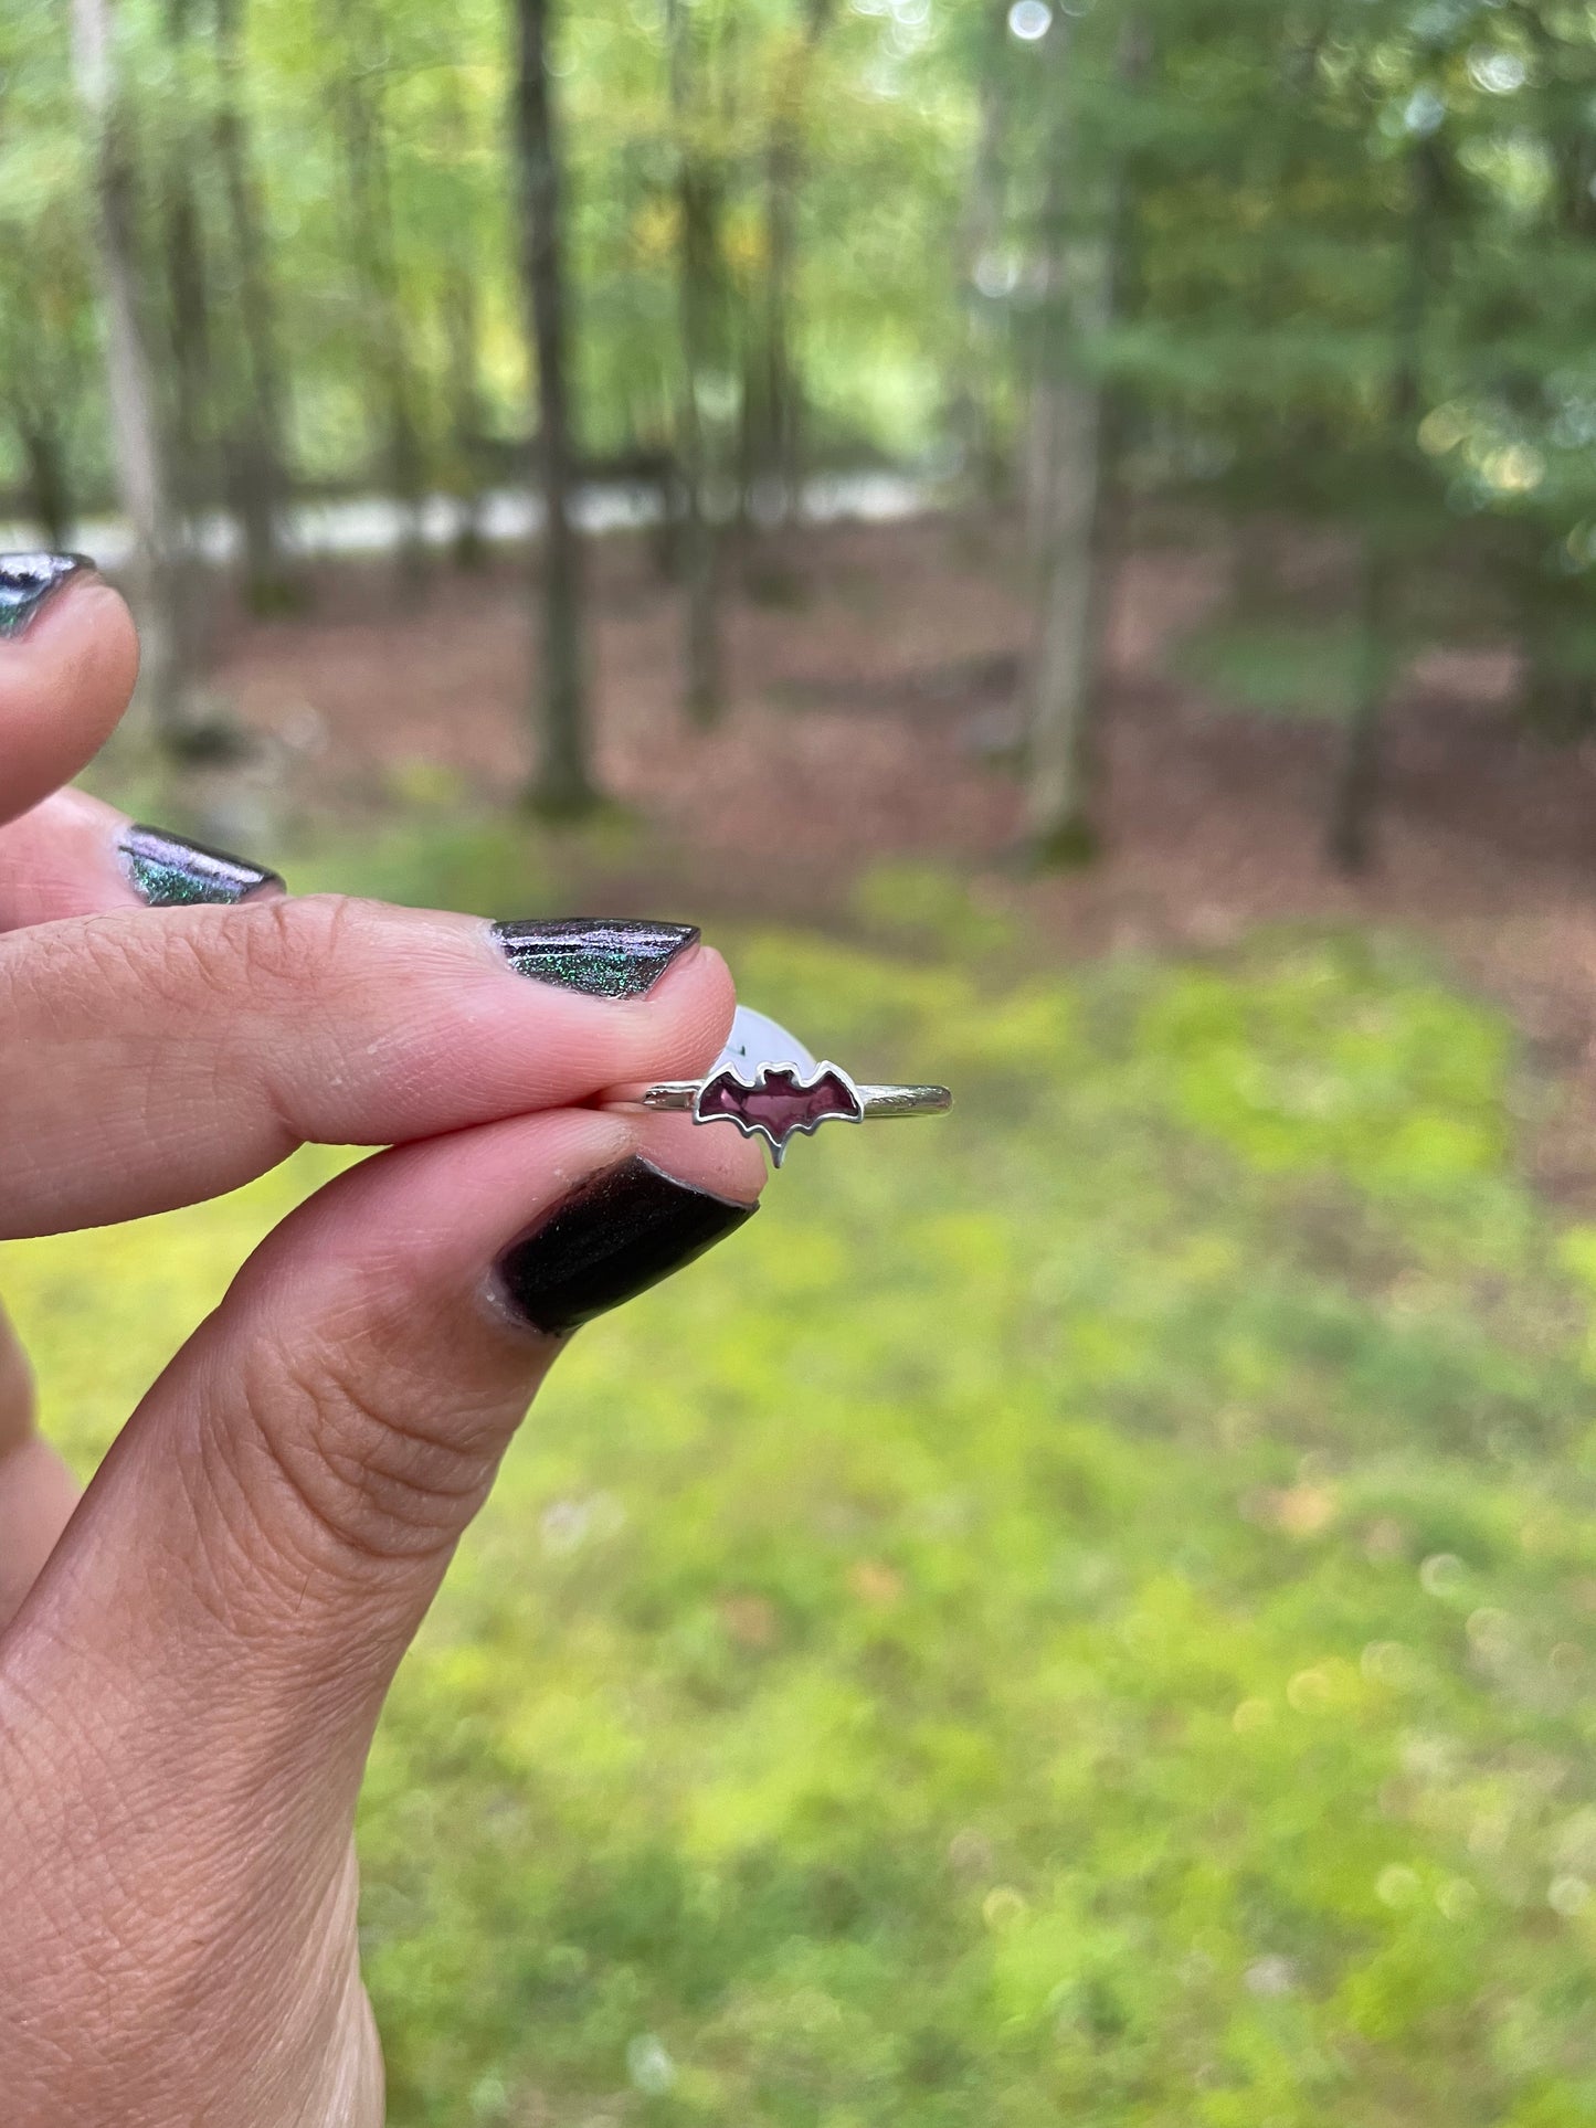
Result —
<instances>
[{"instance_id":1,"label":"glossy black thumbnail just below the bat ring","mask_svg":"<svg viewBox=\"0 0 1596 2128\"><path fill-rule=\"evenodd\" d=\"M575 1190L498 1264L506 1300L534 1330L564 1336L668 1279L758 1211L624 1160Z\"/></svg>"}]
</instances>

